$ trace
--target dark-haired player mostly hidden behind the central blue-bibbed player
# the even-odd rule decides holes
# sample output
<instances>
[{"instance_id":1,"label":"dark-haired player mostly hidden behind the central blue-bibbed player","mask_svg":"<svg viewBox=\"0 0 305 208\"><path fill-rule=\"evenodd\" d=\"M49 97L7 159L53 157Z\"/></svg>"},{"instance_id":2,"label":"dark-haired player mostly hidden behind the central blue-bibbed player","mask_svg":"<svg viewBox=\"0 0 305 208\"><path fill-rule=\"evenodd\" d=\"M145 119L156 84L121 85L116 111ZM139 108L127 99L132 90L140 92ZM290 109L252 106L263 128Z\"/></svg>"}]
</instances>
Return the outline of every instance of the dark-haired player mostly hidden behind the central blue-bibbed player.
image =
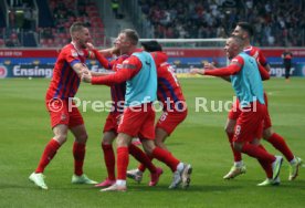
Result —
<instances>
[{"instance_id":1,"label":"dark-haired player mostly hidden behind the central blue-bibbed player","mask_svg":"<svg viewBox=\"0 0 305 208\"><path fill-rule=\"evenodd\" d=\"M187 117L186 100L172 66L167 63L168 58L162 52L161 45L157 41L143 42L141 45L145 51L150 52L156 62L158 76L157 98L164 111L155 127L155 144L160 148L168 149L165 141ZM145 169L145 165L141 164L138 168L128 170L127 177L139 183Z\"/></svg>"}]
</instances>

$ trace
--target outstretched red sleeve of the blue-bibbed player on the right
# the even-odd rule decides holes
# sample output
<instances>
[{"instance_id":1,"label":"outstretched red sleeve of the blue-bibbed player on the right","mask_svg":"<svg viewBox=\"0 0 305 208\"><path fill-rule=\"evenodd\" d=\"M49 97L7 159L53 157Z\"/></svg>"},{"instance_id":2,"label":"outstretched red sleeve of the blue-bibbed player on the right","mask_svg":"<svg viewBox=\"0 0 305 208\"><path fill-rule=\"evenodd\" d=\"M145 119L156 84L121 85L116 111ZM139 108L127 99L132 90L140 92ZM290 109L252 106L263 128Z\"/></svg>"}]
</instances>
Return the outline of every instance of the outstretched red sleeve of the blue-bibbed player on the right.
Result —
<instances>
[{"instance_id":1,"label":"outstretched red sleeve of the blue-bibbed player on the right","mask_svg":"<svg viewBox=\"0 0 305 208\"><path fill-rule=\"evenodd\" d=\"M231 64L227 67L220 67L215 70L206 70L206 75L213 75L213 76L230 76L233 74L239 73L243 66L243 59L242 56L235 56L232 59Z\"/></svg>"}]
</instances>

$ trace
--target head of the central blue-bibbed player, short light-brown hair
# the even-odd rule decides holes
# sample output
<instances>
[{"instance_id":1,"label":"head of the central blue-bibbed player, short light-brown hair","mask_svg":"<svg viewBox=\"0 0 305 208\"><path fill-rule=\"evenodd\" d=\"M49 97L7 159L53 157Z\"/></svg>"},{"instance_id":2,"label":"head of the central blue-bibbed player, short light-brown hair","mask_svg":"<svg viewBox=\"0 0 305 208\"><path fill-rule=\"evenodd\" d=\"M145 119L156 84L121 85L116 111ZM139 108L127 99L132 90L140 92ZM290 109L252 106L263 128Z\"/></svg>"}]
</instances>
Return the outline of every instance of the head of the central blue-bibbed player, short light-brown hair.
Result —
<instances>
[{"instance_id":1,"label":"head of the central blue-bibbed player, short light-brown hair","mask_svg":"<svg viewBox=\"0 0 305 208\"><path fill-rule=\"evenodd\" d=\"M135 30L125 29L119 32L117 39L120 42L120 53L125 54L137 46L139 35Z\"/></svg>"}]
</instances>

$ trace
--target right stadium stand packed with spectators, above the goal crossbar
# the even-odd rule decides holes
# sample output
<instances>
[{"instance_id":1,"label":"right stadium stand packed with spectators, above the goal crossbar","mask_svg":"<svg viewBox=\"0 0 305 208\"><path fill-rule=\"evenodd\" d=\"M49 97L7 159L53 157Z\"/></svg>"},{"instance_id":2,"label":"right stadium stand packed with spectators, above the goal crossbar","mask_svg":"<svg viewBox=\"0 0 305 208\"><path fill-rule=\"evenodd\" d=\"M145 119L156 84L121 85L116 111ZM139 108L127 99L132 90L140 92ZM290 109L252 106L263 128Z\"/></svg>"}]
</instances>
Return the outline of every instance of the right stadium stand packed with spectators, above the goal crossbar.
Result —
<instances>
[{"instance_id":1,"label":"right stadium stand packed with spectators, above the goal crossbar","mask_svg":"<svg viewBox=\"0 0 305 208\"><path fill-rule=\"evenodd\" d=\"M305 45L305 3L291 0L139 0L155 38L224 38L238 21L251 22L263 46Z\"/></svg>"}]
</instances>

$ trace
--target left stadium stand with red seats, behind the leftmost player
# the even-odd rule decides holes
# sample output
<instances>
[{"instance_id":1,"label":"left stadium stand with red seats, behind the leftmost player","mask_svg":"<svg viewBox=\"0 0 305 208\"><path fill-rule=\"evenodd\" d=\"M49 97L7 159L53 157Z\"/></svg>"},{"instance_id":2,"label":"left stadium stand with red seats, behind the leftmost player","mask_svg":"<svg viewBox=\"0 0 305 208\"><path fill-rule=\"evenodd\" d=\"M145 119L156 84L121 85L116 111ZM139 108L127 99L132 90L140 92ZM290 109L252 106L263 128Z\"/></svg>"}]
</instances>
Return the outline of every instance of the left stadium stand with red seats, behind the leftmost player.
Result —
<instances>
[{"instance_id":1,"label":"left stadium stand with red seats, behind the leftmost player","mask_svg":"<svg viewBox=\"0 0 305 208\"><path fill-rule=\"evenodd\" d=\"M23 0L15 2L18 4L14 1L0 3L0 11L8 11L0 12L1 46L60 48L71 41L69 28L74 21L85 22L91 28L95 45L104 44L104 24L94 1ZM36 9L33 9L34 6ZM6 25L6 18L9 20L9 25Z\"/></svg>"}]
</instances>

